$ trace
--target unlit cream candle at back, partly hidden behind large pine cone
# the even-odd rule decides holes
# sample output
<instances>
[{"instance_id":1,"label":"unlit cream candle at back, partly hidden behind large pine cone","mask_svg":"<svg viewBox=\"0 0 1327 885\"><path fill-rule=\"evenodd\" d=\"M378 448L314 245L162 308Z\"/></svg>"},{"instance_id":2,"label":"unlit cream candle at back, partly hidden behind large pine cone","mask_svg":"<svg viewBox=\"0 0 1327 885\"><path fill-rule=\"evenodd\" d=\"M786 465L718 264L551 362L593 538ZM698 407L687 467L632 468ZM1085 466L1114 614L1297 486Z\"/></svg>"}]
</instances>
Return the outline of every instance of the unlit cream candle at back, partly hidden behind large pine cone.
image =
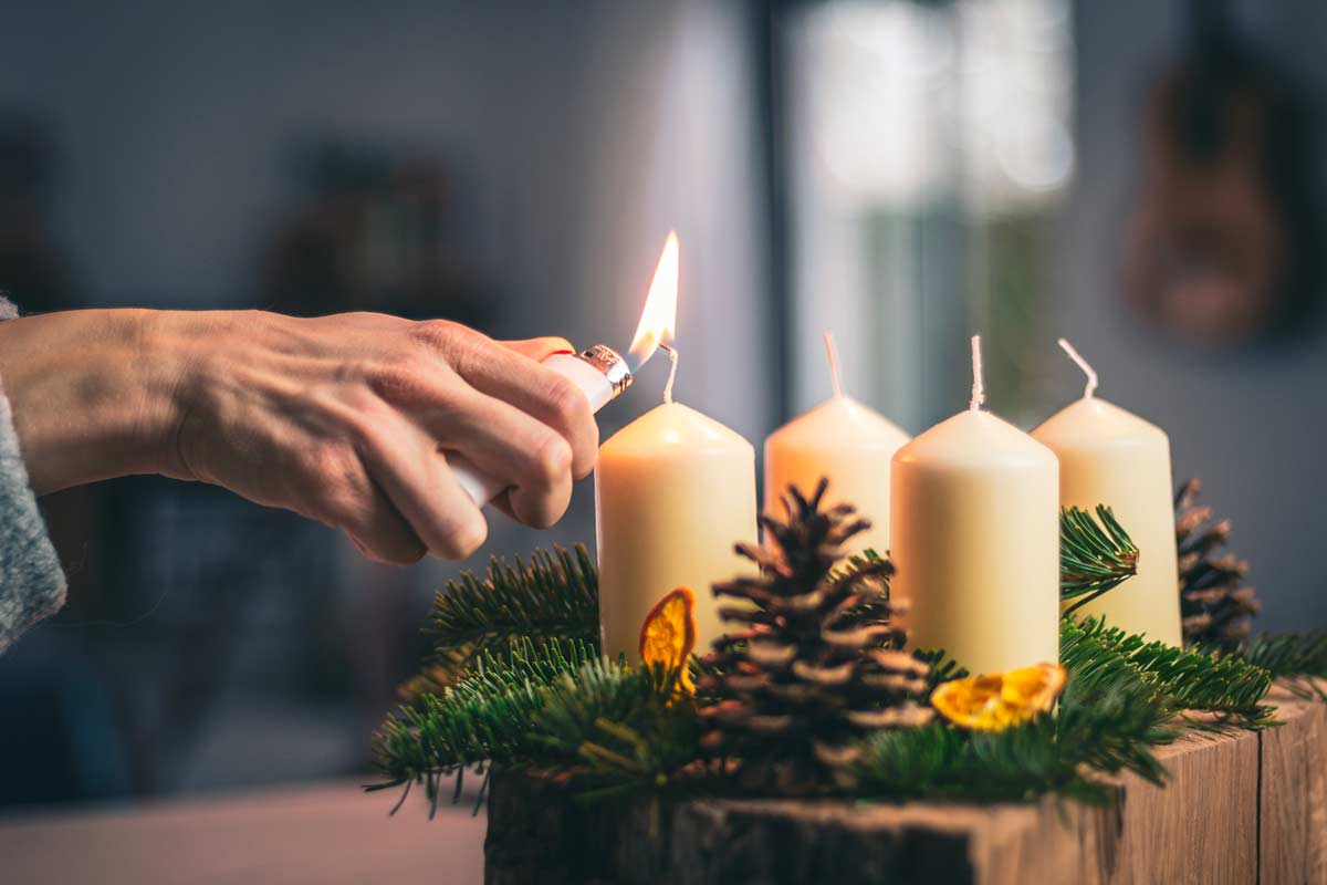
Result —
<instances>
[{"instance_id":1,"label":"unlit cream candle at back, partly hidden behind large pine cone","mask_svg":"<svg viewBox=\"0 0 1327 885\"><path fill-rule=\"evenodd\" d=\"M829 478L829 503L847 502L871 520L849 553L889 549L889 459L909 437L884 415L843 391L833 338L825 333L833 397L794 418L764 441L764 507L795 484L805 494Z\"/></svg>"}]
</instances>

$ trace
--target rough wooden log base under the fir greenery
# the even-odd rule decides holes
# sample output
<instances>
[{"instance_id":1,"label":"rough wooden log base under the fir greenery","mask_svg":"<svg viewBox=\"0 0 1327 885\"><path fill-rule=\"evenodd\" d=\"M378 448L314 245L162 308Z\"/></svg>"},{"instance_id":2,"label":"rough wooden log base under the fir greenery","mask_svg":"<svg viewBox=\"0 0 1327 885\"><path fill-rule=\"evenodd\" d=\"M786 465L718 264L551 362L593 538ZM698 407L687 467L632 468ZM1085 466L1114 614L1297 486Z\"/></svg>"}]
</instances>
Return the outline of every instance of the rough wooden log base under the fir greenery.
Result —
<instances>
[{"instance_id":1,"label":"rough wooden log base under the fir greenery","mask_svg":"<svg viewBox=\"0 0 1327 885\"><path fill-rule=\"evenodd\" d=\"M804 800L573 804L495 774L488 885L1327 882L1327 705L1281 695L1262 734L1161 748L1170 780L1113 808Z\"/></svg>"}]
</instances>

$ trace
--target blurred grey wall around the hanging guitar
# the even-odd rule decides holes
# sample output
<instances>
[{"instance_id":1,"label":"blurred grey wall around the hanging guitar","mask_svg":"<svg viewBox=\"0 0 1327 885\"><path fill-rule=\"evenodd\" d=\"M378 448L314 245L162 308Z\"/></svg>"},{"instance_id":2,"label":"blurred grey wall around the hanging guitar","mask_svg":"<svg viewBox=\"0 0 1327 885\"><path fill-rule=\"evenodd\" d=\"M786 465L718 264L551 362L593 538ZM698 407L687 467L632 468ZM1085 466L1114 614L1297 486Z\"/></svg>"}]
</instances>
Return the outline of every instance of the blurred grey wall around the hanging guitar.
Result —
<instances>
[{"instance_id":1,"label":"blurred grey wall around the hanging guitar","mask_svg":"<svg viewBox=\"0 0 1327 885\"><path fill-rule=\"evenodd\" d=\"M1265 604L1259 625L1322 626L1327 588L1315 559L1327 492L1322 312L1299 338L1212 354L1149 334L1120 296L1123 232L1139 199L1145 88L1176 57L1182 5L1078 4L1079 172L1060 251L1059 330L1095 364L1103 397L1169 431L1177 480L1202 478L1204 500L1231 517L1231 548L1250 559L1250 580ZM1327 7L1282 0L1237 4L1237 12L1250 37L1308 86L1322 121ZM1054 358L1044 365L1058 373L1058 402L1080 394L1071 365L1054 369Z\"/></svg>"}]
</instances>

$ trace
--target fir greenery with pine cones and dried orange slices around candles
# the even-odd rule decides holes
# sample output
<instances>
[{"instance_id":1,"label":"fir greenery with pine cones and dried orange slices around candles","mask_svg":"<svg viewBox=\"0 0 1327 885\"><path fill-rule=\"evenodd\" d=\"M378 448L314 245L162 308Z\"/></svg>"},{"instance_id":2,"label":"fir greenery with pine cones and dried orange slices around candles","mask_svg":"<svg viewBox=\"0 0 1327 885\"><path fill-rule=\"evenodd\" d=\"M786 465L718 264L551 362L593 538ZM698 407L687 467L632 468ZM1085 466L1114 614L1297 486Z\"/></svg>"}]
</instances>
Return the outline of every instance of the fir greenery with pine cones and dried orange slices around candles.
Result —
<instances>
[{"instance_id":1,"label":"fir greenery with pine cones and dried orange slices around candles","mask_svg":"<svg viewBox=\"0 0 1327 885\"><path fill-rule=\"evenodd\" d=\"M584 547L494 560L438 593L434 651L374 735L381 782L419 784L435 811L466 771L556 783L581 807L666 797L868 803L1112 801L1109 778L1165 783L1156 750L1185 730L1277 724L1281 682L1322 695L1327 632L1251 637L1247 565L1229 523L1177 494L1185 647L1129 636L1084 602L1127 581L1139 549L1109 507L1060 515L1059 662L970 674L942 649L908 650L893 567L845 557L868 523L790 488L738 545L756 573L717 584L727 633L695 649L690 588L661 588L641 661L598 647L594 564ZM665 592L666 590L666 592ZM445 782L455 780L449 791ZM483 791L480 791L480 796ZM399 808L399 803L397 805Z\"/></svg>"}]
</instances>

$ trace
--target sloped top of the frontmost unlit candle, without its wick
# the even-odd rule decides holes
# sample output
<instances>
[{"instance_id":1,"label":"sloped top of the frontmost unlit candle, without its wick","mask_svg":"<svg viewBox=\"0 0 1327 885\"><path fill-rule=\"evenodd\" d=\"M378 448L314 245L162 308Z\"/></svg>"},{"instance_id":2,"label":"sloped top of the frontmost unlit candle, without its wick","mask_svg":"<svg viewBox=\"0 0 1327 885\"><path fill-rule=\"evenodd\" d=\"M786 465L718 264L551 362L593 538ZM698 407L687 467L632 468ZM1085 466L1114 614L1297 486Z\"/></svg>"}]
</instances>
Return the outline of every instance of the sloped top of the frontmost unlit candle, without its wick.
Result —
<instances>
[{"instance_id":1,"label":"sloped top of the frontmost unlit candle, without its wick","mask_svg":"<svg viewBox=\"0 0 1327 885\"><path fill-rule=\"evenodd\" d=\"M894 462L955 470L1058 468L1055 452L989 411L961 411L898 450Z\"/></svg>"}]
</instances>

